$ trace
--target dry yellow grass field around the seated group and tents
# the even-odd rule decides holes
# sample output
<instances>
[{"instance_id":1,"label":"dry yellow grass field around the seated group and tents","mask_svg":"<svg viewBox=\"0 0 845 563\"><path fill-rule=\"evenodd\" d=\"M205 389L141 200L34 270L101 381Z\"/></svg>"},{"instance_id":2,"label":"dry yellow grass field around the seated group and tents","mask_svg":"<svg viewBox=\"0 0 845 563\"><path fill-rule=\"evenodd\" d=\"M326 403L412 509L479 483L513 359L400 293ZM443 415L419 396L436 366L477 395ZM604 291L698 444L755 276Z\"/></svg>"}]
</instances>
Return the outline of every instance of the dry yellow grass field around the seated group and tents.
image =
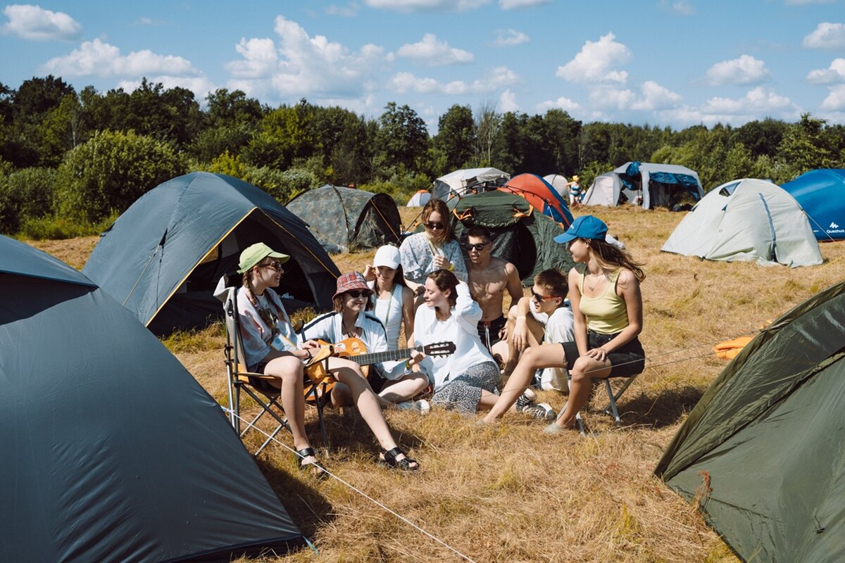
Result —
<instances>
[{"instance_id":1,"label":"dry yellow grass field around the seated group and tents","mask_svg":"<svg viewBox=\"0 0 845 563\"><path fill-rule=\"evenodd\" d=\"M410 210L402 209L406 220ZM646 263L642 284L646 371L619 400L623 427L586 412L594 433L542 435L542 423L512 414L495 427L433 410L385 414L395 437L422 463L402 474L374 463L378 448L353 409L327 411L323 462L344 482L296 470L275 444L258 463L319 552L302 549L265 561L735 561L695 509L651 472L663 449L725 365L712 345L753 333L845 278L845 242L821 246L815 268L711 263L660 252L682 214L639 208L585 208ZM37 242L74 267L95 243ZM335 257L341 271L363 269L373 252ZM220 325L166 344L221 403L226 398ZM542 392L559 409L564 396ZM319 443L313 409L308 431ZM248 436L254 445L259 436ZM291 446L290 436L281 442ZM226 460L221 459L221 463ZM357 490L353 490L352 486ZM360 491L360 492L359 492ZM362 493L435 539L395 517ZM442 543L441 543L442 542ZM447 547L447 545L449 547ZM462 555L458 555L458 554Z\"/></svg>"}]
</instances>

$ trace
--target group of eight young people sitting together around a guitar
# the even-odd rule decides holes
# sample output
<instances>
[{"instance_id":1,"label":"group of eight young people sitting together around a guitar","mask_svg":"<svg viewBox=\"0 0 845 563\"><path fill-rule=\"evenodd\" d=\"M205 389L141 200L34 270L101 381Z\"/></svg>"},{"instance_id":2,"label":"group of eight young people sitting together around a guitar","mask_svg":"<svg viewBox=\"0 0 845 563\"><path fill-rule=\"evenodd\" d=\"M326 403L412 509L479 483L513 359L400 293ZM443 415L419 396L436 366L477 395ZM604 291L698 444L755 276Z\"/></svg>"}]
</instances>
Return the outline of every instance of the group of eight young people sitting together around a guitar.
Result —
<instances>
[{"instance_id":1,"label":"group of eight young people sitting together around a guitar","mask_svg":"<svg viewBox=\"0 0 845 563\"><path fill-rule=\"evenodd\" d=\"M487 423L520 410L554 420L545 431L557 433L574 427L592 378L643 370L637 337L645 276L639 263L605 240L607 226L600 219L575 219L555 238L569 246L576 267L568 276L543 271L531 296L524 296L514 265L492 255L489 231L468 230L465 262L449 218L444 202L431 200L423 208L423 232L408 236L399 248L380 247L363 273L341 275L334 311L298 333L274 290L288 257L261 243L243 251L237 304L248 369L273 377L303 469L323 472L305 434L303 400L303 370L319 340L357 338L368 352L383 352L399 349L404 328L405 360L362 367L354 356L331 357L328 368L337 381L331 402L354 404L384 450L379 462L407 471L420 464L396 445L383 409L424 414L435 405L464 414L487 411ZM507 316L505 292L513 304ZM439 343L449 343L450 353L422 352ZM539 369L545 369L543 387L568 389L556 420L530 390Z\"/></svg>"}]
</instances>

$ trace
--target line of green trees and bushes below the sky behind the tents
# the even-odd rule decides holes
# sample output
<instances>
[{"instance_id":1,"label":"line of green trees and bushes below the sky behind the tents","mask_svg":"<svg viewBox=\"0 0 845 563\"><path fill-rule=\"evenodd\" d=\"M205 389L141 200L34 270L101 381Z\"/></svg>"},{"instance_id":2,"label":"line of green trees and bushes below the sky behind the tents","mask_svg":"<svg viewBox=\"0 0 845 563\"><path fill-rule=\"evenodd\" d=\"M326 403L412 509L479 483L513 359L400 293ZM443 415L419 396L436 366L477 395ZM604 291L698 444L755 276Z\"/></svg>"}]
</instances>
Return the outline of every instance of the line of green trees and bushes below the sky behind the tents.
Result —
<instances>
[{"instance_id":1,"label":"line of green trees and bushes below the sky behind the tents","mask_svg":"<svg viewBox=\"0 0 845 563\"><path fill-rule=\"evenodd\" d=\"M782 183L845 167L845 127L805 114L674 130L455 104L431 135L411 107L378 118L308 100L270 107L217 89L204 104L144 78L132 92L77 92L52 75L0 84L0 232L96 230L162 181L188 171L243 178L281 203L323 183L390 193L399 203L434 178L493 166L512 175L598 174L629 160L685 165L706 189L741 177Z\"/></svg>"}]
</instances>

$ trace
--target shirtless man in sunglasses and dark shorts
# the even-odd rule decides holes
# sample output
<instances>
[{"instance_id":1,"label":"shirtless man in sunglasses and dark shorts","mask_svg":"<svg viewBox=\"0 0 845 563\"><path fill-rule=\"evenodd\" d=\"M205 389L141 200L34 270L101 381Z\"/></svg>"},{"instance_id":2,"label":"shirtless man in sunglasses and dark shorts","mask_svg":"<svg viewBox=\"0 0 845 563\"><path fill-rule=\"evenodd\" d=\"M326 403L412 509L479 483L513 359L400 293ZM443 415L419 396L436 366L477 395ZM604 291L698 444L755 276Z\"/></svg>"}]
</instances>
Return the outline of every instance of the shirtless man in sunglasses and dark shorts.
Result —
<instances>
[{"instance_id":1,"label":"shirtless man in sunglasses and dark shorts","mask_svg":"<svg viewBox=\"0 0 845 563\"><path fill-rule=\"evenodd\" d=\"M502 314L504 291L508 291L513 303L522 297L520 274L510 262L492 256L493 241L487 227L476 225L467 231L466 236L466 250L470 256L466 265L470 293L482 311L478 337L489 349L504 338L502 329L507 322Z\"/></svg>"}]
</instances>

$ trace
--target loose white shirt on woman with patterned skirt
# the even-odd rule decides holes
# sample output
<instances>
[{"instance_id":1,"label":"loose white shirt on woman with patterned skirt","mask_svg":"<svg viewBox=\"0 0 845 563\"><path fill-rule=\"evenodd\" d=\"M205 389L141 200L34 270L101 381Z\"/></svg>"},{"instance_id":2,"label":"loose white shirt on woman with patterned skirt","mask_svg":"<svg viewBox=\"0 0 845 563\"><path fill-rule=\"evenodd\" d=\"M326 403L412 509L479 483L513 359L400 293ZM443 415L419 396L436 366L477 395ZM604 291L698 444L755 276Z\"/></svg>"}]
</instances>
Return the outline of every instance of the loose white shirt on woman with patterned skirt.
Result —
<instances>
[{"instance_id":1,"label":"loose white shirt on woman with patterned skirt","mask_svg":"<svg viewBox=\"0 0 845 563\"><path fill-rule=\"evenodd\" d=\"M455 353L448 356L426 356L420 362L420 370L433 382L434 391L439 391L450 378L460 376L471 365L493 361L493 357L478 338L478 321L481 307L472 300L466 284L458 284L457 300L452 315L445 321L438 321L433 307L421 305L414 317L414 344L427 345L435 342L455 343Z\"/></svg>"}]
</instances>

